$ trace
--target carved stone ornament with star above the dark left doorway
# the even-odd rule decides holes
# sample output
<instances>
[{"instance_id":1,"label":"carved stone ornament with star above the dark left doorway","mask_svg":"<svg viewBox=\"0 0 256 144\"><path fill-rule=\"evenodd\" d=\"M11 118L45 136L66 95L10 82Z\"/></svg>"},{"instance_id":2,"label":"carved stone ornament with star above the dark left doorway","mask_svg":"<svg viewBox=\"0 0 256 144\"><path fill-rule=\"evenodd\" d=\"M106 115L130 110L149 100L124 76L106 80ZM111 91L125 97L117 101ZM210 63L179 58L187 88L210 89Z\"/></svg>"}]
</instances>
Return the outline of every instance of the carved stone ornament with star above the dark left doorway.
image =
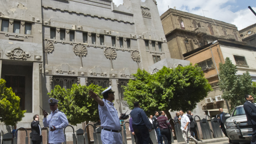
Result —
<instances>
[{"instance_id":1,"label":"carved stone ornament with star above the dark left doorway","mask_svg":"<svg viewBox=\"0 0 256 144\"><path fill-rule=\"evenodd\" d=\"M20 46L13 49L12 51L7 51L6 55L10 59L23 59L23 60L27 60L27 58L31 56L29 52L25 52L22 49L20 49Z\"/></svg>"}]
</instances>

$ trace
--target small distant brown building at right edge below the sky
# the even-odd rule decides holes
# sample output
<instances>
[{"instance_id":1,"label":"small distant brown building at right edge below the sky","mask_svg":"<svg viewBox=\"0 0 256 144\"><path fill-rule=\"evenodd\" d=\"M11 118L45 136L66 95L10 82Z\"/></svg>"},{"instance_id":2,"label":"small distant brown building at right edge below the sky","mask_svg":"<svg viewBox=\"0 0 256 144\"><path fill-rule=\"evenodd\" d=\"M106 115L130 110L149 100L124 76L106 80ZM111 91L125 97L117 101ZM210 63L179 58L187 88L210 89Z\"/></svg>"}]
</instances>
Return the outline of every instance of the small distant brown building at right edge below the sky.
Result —
<instances>
[{"instance_id":1,"label":"small distant brown building at right edge below the sky","mask_svg":"<svg viewBox=\"0 0 256 144\"><path fill-rule=\"evenodd\" d=\"M256 23L251 26L248 26L244 29L239 30L239 34L243 42L246 42L247 45L256 46Z\"/></svg>"}]
</instances>

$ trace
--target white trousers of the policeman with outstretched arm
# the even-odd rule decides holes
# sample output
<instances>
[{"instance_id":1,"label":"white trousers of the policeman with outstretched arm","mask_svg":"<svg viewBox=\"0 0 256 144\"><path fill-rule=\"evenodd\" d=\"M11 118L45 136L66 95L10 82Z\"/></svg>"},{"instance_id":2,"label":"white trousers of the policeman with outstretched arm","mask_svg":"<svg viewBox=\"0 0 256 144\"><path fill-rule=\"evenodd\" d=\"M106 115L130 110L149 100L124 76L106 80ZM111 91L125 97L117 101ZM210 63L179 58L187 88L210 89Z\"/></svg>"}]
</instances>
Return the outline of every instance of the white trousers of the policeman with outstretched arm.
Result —
<instances>
[{"instance_id":1,"label":"white trousers of the policeman with outstretched arm","mask_svg":"<svg viewBox=\"0 0 256 144\"><path fill-rule=\"evenodd\" d=\"M119 132L101 130L102 144L122 144L122 136Z\"/></svg>"}]
</instances>

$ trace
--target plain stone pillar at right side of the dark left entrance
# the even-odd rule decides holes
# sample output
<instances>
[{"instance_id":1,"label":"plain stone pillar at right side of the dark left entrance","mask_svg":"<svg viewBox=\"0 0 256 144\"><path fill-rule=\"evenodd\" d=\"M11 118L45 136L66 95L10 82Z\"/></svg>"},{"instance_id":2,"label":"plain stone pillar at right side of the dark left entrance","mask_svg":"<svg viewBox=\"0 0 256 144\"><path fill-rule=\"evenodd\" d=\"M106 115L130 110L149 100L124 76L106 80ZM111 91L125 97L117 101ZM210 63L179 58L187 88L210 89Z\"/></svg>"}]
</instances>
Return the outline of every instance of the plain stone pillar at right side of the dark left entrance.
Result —
<instances>
[{"instance_id":1,"label":"plain stone pillar at right side of the dark left entrance","mask_svg":"<svg viewBox=\"0 0 256 144\"><path fill-rule=\"evenodd\" d=\"M32 113L40 114L40 68L41 62L33 63L33 100L32 100Z\"/></svg>"}]
</instances>

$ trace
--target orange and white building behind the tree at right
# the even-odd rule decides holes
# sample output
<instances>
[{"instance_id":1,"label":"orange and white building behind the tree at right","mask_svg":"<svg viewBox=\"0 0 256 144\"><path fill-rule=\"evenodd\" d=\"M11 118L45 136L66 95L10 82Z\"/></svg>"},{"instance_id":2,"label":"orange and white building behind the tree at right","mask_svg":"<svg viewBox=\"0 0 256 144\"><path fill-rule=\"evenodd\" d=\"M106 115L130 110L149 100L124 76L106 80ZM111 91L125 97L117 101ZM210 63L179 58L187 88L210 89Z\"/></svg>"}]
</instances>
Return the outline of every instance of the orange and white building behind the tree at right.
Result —
<instances>
[{"instance_id":1,"label":"orange and white building behind the tree at right","mask_svg":"<svg viewBox=\"0 0 256 144\"><path fill-rule=\"evenodd\" d=\"M249 71L252 81L256 81L256 47L247 45L244 42L230 42L219 39L215 44L210 43L188 52L184 58L193 63L193 65L197 63L212 86L213 91L198 105L205 114L213 117L219 114L219 108L223 108L224 111L228 112L227 102L221 98L222 91L218 86L219 63L225 63L227 57L237 66L237 75L243 75L243 73Z\"/></svg>"}]
</instances>

